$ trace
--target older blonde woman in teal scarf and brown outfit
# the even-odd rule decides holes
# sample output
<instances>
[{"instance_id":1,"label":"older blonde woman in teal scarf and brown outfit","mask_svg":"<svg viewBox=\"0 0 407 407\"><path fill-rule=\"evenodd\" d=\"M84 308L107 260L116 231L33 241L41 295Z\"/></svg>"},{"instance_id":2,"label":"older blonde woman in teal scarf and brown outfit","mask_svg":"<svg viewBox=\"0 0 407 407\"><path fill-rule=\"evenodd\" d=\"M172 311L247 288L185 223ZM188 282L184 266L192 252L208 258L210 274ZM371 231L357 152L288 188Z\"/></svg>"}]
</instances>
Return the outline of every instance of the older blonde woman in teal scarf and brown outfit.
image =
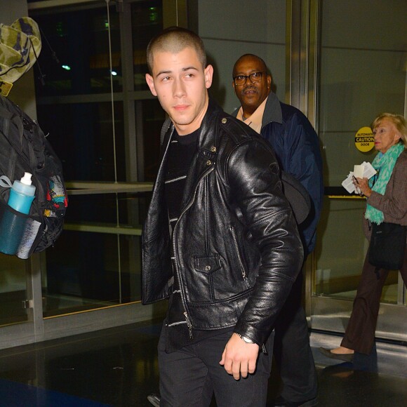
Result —
<instances>
[{"instance_id":1,"label":"older blonde woman in teal scarf and brown outfit","mask_svg":"<svg viewBox=\"0 0 407 407\"><path fill-rule=\"evenodd\" d=\"M378 171L374 180L356 178L361 193L366 196L364 229L370 239L372 222L407 225L407 125L403 116L383 113L373 121L375 149L378 154L373 167ZM373 183L374 182L374 183ZM354 299L352 314L340 347L320 348L333 359L352 361L354 352L370 354L375 339L376 321L382 288L389 273L368 262L368 255L362 269L361 281ZM407 284L407 249L404 253L401 276Z\"/></svg>"}]
</instances>

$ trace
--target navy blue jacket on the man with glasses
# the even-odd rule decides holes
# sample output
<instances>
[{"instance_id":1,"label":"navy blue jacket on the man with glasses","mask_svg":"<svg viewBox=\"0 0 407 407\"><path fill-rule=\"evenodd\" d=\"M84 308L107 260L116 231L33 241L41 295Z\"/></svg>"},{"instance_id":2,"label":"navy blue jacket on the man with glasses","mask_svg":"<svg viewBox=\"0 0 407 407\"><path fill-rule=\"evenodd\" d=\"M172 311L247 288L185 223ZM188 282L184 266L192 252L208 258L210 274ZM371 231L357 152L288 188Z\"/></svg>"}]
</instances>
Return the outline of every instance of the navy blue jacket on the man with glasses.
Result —
<instances>
[{"instance_id":1,"label":"navy blue jacket on the man with glasses","mask_svg":"<svg viewBox=\"0 0 407 407\"><path fill-rule=\"evenodd\" d=\"M232 115L236 117L237 112ZM323 201L318 136L300 110L281 103L274 93L267 98L260 134L272 145L280 168L299 180L311 197L312 208L308 218L298 226L307 255L315 247L316 225Z\"/></svg>"}]
</instances>

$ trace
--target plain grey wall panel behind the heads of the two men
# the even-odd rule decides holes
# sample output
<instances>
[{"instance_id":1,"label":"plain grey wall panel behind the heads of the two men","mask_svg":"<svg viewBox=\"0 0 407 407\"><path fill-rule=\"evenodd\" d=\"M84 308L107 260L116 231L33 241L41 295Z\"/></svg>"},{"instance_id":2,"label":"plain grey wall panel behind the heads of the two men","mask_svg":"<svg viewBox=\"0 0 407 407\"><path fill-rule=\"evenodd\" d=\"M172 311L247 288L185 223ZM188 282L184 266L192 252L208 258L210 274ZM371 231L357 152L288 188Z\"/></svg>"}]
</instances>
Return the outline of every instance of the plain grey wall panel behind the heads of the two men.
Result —
<instances>
[{"instance_id":1,"label":"plain grey wall panel behind the heads of the two men","mask_svg":"<svg viewBox=\"0 0 407 407\"><path fill-rule=\"evenodd\" d=\"M214 65L211 95L231 113L239 107L232 88L234 62L245 53L265 60L272 72L276 94L284 100L286 79L285 0L198 1L198 34L204 40L208 61Z\"/></svg>"}]
</instances>

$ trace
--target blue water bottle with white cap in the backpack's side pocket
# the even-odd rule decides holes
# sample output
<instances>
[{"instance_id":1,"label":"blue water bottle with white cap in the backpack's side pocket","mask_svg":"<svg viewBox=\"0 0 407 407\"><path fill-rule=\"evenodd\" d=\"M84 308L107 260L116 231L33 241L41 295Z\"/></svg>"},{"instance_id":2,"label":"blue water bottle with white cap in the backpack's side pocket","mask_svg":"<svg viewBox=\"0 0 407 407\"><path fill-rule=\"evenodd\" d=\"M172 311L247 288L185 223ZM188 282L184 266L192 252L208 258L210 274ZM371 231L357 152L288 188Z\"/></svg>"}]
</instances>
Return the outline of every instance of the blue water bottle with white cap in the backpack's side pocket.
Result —
<instances>
[{"instance_id":1,"label":"blue water bottle with white cap in the backpack's side pocket","mask_svg":"<svg viewBox=\"0 0 407 407\"><path fill-rule=\"evenodd\" d=\"M32 174L24 173L20 181L15 180L8 197L8 206L15 211L29 214L35 197L35 185L32 185ZM0 222L0 252L6 254L17 253L18 246L25 230L27 218L11 211L5 211Z\"/></svg>"}]
</instances>

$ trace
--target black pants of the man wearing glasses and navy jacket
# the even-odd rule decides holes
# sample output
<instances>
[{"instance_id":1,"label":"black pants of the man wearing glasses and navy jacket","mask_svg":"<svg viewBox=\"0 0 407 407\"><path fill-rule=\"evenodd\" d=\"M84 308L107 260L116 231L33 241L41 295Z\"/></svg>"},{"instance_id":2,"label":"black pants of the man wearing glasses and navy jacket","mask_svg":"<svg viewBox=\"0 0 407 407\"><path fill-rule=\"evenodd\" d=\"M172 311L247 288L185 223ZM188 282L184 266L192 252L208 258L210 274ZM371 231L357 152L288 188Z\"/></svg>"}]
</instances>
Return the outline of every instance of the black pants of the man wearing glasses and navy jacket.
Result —
<instances>
[{"instance_id":1,"label":"black pants of the man wearing glasses and navy jacket","mask_svg":"<svg viewBox=\"0 0 407 407\"><path fill-rule=\"evenodd\" d=\"M317 393L314 357L301 304L302 279L301 272L275 324L274 357L283 382L281 396L287 401L313 399Z\"/></svg>"}]
</instances>

